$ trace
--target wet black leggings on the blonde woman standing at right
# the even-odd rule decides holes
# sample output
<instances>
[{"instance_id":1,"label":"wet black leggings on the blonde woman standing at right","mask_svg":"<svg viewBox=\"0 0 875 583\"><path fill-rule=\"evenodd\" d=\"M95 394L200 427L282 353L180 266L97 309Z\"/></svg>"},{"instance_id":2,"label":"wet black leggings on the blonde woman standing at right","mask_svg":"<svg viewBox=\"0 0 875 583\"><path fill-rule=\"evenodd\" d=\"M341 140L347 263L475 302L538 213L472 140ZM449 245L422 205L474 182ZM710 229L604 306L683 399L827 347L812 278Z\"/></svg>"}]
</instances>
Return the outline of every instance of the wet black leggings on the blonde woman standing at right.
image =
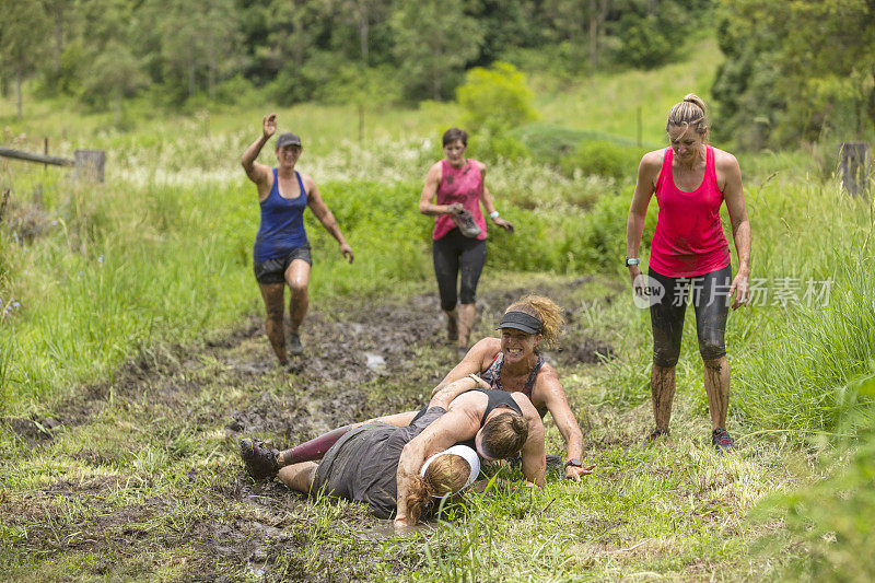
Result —
<instances>
[{"instance_id":1,"label":"wet black leggings on the blonde woman standing at right","mask_svg":"<svg viewBox=\"0 0 875 583\"><path fill-rule=\"evenodd\" d=\"M669 278L650 270L650 277L662 283L665 294L650 307L653 327L653 363L672 368L680 355L680 336L684 333L684 314L692 296L696 310L696 334L702 360L716 360L726 355L723 337L730 313L730 285L732 267L711 271L695 278Z\"/></svg>"}]
</instances>

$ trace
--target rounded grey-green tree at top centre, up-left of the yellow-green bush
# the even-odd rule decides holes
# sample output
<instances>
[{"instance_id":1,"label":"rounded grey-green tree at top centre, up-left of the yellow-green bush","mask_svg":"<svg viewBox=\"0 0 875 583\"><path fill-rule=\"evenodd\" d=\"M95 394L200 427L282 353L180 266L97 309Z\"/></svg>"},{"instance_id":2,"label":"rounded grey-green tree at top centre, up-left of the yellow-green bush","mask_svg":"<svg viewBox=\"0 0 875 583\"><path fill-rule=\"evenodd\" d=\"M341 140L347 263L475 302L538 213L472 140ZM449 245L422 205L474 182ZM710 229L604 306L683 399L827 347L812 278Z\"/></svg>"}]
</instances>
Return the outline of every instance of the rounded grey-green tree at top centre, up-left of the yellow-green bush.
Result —
<instances>
[{"instance_id":1,"label":"rounded grey-green tree at top centre, up-left of the yellow-green bush","mask_svg":"<svg viewBox=\"0 0 875 583\"><path fill-rule=\"evenodd\" d=\"M478 55L481 25L465 12L464 0L401 3L392 16L395 57L411 92L442 100L465 65Z\"/></svg>"}]
</instances>

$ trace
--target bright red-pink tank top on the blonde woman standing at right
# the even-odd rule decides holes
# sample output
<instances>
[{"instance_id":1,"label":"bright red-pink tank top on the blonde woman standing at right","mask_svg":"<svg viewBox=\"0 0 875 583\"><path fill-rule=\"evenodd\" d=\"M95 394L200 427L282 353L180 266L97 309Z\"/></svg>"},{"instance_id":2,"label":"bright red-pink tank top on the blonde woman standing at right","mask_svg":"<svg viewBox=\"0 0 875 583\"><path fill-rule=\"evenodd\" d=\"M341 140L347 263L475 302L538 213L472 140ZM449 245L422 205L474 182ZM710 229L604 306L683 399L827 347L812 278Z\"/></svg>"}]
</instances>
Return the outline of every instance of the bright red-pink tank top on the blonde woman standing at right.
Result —
<instances>
[{"instance_id":1,"label":"bright red-pink tank top on the blonde woman standing at right","mask_svg":"<svg viewBox=\"0 0 875 583\"><path fill-rule=\"evenodd\" d=\"M723 193L718 188L714 149L708 145L707 152L702 184L686 193L675 186L673 152L665 150L656 179L660 214L650 253L650 268L661 276L703 276L730 265L730 246L720 219Z\"/></svg>"}]
</instances>

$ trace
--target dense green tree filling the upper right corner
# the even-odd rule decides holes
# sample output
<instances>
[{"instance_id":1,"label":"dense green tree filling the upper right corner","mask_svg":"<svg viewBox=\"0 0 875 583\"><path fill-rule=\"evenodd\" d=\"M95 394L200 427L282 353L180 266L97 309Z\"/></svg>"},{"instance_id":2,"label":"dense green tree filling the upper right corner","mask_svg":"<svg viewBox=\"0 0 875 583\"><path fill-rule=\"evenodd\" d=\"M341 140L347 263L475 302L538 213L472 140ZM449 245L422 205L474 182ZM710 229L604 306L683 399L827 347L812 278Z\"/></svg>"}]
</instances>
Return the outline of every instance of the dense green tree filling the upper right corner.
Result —
<instances>
[{"instance_id":1,"label":"dense green tree filling the upper right corner","mask_svg":"<svg viewBox=\"0 0 875 583\"><path fill-rule=\"evenodd\" d=\"M792 144L875 128L875 1L721 0L723 137Z\"/></svg>"}]
</instances>

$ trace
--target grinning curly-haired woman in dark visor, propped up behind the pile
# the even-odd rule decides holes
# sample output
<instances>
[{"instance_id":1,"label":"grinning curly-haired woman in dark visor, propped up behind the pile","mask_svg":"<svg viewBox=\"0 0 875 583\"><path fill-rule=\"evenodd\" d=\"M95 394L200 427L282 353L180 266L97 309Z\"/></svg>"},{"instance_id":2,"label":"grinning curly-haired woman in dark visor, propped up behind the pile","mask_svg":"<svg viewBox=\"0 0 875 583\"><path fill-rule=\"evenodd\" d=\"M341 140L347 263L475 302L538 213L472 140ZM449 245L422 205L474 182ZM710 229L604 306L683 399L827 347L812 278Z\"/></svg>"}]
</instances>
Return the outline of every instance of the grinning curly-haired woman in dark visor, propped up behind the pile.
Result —
<instances>
[{"instance_id":1,"label":"grinning curly-haired woman in dark visor, propped up behind the pile","mask_svg":"<svg viewBox=\"0 0 875 583\"><path fill-rule=\"evenodd\" d=\"M525 395L541 418L548 411L552 416L565 442L565 478L580 481L595 466L581 463L583 434L556 370L539 351L541 342L556 346L562 324L562 311L549 298L522 298L504 311L498 326L501 337L483 338L471 347L433 393L468 374L479 374L490 388Z\"/></svg>"}]
</instances>

